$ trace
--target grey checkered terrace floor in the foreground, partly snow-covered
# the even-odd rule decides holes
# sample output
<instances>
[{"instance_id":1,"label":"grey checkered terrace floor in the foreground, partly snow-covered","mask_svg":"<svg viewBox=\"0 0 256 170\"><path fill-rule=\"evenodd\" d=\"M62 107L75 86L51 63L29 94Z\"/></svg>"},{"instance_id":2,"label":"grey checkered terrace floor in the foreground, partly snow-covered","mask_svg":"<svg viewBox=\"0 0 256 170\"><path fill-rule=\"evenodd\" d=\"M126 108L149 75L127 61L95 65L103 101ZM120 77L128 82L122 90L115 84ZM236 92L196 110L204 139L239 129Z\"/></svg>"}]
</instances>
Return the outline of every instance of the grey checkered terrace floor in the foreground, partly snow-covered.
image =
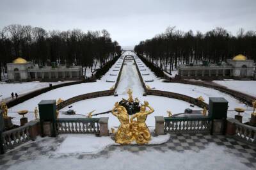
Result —
<instances>
[{"instance_id":1,"label":"grey checkered terrace floor in the foreground, partly snow-covered","mask_svg":"<svg viewBox=\"0 0 256 170\"><path fill-rule=\"evenodd\" d=\"M172 134L167 143L159 145L109 146L93 155L58 155L56 150L65 137L39 138L8 151L0 155L0 169L256 168L256 147L223 135Z\"/></svg>"}]
</instances>

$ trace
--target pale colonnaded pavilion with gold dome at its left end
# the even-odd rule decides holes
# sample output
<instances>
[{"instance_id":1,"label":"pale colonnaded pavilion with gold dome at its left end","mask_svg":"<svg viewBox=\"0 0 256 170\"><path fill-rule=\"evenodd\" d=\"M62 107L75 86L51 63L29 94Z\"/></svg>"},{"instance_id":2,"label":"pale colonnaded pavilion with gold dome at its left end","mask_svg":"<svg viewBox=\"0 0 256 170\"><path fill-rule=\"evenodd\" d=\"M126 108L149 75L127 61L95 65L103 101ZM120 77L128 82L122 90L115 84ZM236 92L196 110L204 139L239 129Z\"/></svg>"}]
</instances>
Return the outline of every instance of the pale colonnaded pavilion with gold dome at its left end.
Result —
<instances>
[{"instance_id":1,"label":"pale colonnaded pavilion with gold dome at its left end","mask_svg":"<svg viewBox=\"0 0 256 170\"><path fill-rule=\"evenodd\" d=\"M36 66L17 58L7 63L8 78L13 81L67 81L83 79L82 66Z\"/></svg>"}]
</instances>

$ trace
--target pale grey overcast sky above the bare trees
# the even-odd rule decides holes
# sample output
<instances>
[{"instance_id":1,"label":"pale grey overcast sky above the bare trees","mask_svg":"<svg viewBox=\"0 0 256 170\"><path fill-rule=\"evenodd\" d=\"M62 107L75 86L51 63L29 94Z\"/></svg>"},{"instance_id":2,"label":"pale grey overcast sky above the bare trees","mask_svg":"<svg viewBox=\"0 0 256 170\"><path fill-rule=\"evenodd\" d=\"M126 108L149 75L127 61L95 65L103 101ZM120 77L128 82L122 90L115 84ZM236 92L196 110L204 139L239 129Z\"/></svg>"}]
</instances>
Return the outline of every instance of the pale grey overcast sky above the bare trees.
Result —
<instances>
[{"instance_id":1,"label":"pale grey overcast sky above the bare trees","mask_svg":"<svg viewBox=\"0 0 256 170\"><path fill-rule=\"evenodd\" d=\"M256 0L0 0L0 28L10 24L44 29L107 29L122 46L163 33L224 27L236 35L256 31Z\"/></svg>"}]
</instances>

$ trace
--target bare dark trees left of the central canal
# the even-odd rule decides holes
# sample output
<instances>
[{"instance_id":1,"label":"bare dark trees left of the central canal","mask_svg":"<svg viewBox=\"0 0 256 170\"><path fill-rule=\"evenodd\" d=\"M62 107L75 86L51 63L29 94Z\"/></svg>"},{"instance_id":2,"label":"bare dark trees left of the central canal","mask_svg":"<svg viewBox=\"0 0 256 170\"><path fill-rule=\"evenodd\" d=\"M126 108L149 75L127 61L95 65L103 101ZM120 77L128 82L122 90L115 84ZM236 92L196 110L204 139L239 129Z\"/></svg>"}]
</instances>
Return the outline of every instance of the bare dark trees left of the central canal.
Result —
<instances>
[{"instance_id":1,"label":"bare dark trees left of the central canal","mask_svg":"<svg viewBox=\"0 0 256 170\"><path fill-rule=\"evenodd\" d=\"M51 62L60 65L74 63L86 70L88 66L104 65L120 52L120 46L116 41L112 42L105 29L87 33L80 29L46 31L41 27L19 24L0 29L0 73L5 70L6 63L18 57L43 66L51 65Z\"/></svg>"}]
</instances>

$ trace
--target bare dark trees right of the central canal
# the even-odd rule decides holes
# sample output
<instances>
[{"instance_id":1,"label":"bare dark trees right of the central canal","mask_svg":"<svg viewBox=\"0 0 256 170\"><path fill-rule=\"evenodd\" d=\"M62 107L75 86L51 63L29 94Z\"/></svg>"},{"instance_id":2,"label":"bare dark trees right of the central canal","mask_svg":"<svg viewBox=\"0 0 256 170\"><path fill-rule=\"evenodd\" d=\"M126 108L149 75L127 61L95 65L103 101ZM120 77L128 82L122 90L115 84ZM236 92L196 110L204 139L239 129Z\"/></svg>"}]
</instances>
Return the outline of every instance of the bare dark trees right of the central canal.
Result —
<instances>
[{"instance_id":1,"label":"bare dark trees right of the central canal","mask_svg":"<svg viewBox=\"0 0 256 170\"><path fill-rule=\"evenodd\" d=\"M184 33L168 27L161 35L140 42L134 51L163 70L177 69L179 64L218 63L238 54L256 61L256 32L239 29L234 36L226 29L216 27L205 34L197 31Z\"/></svg>"}]
</instances>

